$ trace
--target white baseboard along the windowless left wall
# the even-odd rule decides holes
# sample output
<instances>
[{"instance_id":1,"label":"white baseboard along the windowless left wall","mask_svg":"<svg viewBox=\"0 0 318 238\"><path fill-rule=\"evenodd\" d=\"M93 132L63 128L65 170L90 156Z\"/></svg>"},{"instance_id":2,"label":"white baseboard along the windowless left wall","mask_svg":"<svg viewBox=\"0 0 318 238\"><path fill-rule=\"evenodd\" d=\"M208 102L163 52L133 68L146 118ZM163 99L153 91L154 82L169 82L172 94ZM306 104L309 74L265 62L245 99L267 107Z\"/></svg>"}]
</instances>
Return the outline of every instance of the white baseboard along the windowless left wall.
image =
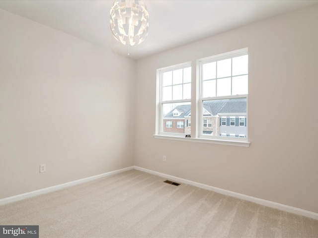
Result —
<instances>
[{"instance_id":1,"label":"white baseboard along the windowless left wall","mask_svg":"<svg viewBox=\"0 0 318 238\"><path fill-rule=\"evenodd\" d=\"M67 187L71 187L71 186L74 186L74 185L77 185L77 184L80 184L80 183L88 182L88 181L95 180L95 179L100 179L100 178L107 177L107 176L110 176L110 175L115 175L115 174L118 174L118 173L121 173L121 172L124 172L124 171L128 171L128 170L132 170L132 169L134 169L133 166L127 167L127 168L124 168L124 169L120 169L120 170L107 172L107 173L100 174L100 175L95 175L95 176L84 178L84 179L79 179L79 180L75 180L75 181L71 181L71 182L66 182L66 183L55 185L55 186L52 186L52 187L46 187L46 188L35 190L35 191L32 191L32 192L22 193L22 194L19 194L19 195L16 195L16 196L12 196L12 197L3 198L3 199L0 199L0 205L4 205L4 204L7 204L7 203L20 201L20 200L23 200L23 199L26 199L26 198L29 198L29 197L34 197L34 196L37 196L37 195L53 192L53 191L60 190L60 189L63 189L63 188L67 188Z\"/></svg>"}]
</instances>

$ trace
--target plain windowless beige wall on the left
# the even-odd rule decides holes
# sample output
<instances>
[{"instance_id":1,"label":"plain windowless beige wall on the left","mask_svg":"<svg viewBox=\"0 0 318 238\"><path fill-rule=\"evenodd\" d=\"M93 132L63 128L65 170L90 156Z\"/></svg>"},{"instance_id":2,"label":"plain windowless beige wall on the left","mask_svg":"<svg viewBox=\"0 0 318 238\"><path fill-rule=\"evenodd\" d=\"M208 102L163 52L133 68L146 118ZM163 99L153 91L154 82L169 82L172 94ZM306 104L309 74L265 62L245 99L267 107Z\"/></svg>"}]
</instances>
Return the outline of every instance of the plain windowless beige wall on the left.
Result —
<instances>
[{"instance_id":1,"label":"plain windowless beige wall on the left","mask_svg":"<svg viewBox=\"0 0 318 238\"><path fill-rule=\"evenodd\" d=\"M1 9L0 36L0 199L133 165L134 60Z\"/></svg>"}]
</instances>

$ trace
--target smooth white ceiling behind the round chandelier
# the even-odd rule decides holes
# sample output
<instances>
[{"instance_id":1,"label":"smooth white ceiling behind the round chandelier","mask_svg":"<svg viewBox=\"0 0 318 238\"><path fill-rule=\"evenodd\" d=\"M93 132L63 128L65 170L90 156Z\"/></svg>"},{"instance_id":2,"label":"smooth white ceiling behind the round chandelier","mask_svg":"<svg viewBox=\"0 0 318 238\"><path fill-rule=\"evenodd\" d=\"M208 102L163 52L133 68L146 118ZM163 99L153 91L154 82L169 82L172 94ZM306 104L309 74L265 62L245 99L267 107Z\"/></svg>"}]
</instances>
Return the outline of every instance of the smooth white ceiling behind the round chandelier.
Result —
<instances>
[{"instance_id":1,"label":"smooth white ceiling behind the round chandelier","mask_svg":"<svg viewBox=\"0 0 318 238\"><path fill-rule=\"evenodd\" d=\"M146 40L130 49L140 59L161 51L293 11L318 0L144 0L149 12ZM113 0L0 0L0 8L126 55L111 34Z\"/></svg>"}]
</instances>

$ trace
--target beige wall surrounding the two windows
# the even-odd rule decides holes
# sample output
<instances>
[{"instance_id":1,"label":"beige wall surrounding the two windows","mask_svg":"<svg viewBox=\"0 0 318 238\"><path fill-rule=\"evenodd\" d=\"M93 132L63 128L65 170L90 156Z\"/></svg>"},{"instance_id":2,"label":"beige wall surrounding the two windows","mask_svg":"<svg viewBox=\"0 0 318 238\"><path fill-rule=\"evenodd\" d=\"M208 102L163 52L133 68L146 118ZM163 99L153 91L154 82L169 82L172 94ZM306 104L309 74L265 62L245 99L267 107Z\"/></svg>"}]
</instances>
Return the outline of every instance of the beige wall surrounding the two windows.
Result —
<instances>
[{"instance_id":1,"label":"beige wall surrounding the two windows","mask_svg":"<svg viewBox=\"0 0 318 238\"><path fill-rule=\"evenodd\" d=\"M135 165L317 213L317 24L318 5L138 60ZM245 47L250 146L155 139L156 69Z\"/></svg>"}]
</instances>

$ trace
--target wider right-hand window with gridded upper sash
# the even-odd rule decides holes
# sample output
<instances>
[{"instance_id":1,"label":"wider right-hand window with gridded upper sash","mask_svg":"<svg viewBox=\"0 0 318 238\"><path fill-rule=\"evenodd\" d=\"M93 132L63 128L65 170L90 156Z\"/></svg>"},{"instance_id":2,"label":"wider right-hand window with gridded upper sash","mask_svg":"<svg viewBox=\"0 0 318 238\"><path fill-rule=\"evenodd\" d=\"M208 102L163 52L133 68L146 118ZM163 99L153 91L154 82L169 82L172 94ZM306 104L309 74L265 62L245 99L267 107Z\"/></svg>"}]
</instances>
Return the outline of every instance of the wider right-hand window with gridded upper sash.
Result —
<instances>
[{"instance_id":1,"label":"wider right-hand window with gridded upper sash","mask_svg":"<svg viewBox=\"0 0 318 238\"><path fill-rule=\"evenodd\" d=\"M248 95L247 49L198 60L200 67L201 133L200 137L215 138L218 135L246 135L245 125ZM204 133L207 112L216 132L215 136ZM242 119L241 119L242 118ZM219 120L219 121L217 121ZM238 126L243 126L238 128ZM244 136L245 138L246 136Z\"/></svg>"}]
</instances>

